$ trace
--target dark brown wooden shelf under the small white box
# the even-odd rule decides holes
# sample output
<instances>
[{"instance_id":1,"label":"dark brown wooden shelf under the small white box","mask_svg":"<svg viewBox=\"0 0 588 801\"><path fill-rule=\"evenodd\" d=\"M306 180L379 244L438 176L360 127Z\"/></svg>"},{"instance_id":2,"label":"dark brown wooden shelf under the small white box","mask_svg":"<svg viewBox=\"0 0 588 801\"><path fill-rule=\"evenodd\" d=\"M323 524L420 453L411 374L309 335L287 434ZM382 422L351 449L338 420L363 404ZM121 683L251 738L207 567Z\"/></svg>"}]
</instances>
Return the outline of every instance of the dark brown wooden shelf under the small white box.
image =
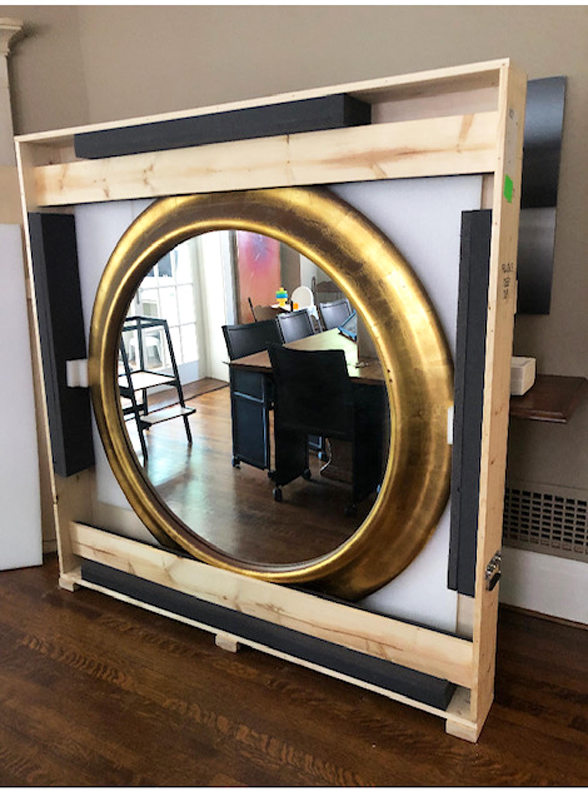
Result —
<instances>
[{"instance_id":1,"label":"dark brown wooden shelf under the small white box","mask_svg":"<svg viewBox=\"0 0 588 801\"><path fill-rule=\"evenodd\" d=\"M522 396L510 398L510 417L543 423L567 423L578 408L588 380L582 376L537 376Z\"/></svg>"}]
</instances>

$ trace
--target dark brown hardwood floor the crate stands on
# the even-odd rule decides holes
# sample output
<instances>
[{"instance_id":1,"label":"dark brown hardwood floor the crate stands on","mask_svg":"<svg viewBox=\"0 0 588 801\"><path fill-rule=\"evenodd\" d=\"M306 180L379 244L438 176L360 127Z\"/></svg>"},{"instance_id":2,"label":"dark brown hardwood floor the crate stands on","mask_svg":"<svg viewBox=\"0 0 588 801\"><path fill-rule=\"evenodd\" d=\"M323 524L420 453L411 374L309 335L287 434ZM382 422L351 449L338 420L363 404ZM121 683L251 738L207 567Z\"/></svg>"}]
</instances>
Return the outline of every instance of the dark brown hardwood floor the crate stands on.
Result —
<instances>
[{"instance_id":1,"label":"dark brown hardwood floor the crate stands on","mask_svg":"<svg viewBox=\"0 0 588 801\"><path fill-rule=\"evenodd\" d=\"M91 590L0 574L0 785L584 786L588 630L501 609L477 745L439 718Z\"/></svg>"}]
</instances>

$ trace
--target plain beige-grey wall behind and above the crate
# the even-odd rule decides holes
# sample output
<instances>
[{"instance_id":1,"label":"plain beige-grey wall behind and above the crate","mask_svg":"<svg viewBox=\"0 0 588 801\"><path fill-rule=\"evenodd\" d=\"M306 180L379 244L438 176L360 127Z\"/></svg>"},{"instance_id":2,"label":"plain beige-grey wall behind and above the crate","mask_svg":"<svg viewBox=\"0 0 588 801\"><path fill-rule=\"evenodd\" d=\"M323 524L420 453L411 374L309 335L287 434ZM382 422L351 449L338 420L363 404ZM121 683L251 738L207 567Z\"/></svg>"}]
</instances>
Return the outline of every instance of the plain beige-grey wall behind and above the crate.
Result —
<instances>
[{"instance_id":1,"label":"plain beige-grey wall behind and above the crate","mask_svg":"<svg viewBox=\"0 0 588 801\"><path fill-rule=\"evenodd\" d=\"M588 9L579 6L0 6L30 21L12 61L20 132L510 56L568 94L550 316L515 350L588 375ZM512 426L510 471L588 488L588 404Z\"/></svg>"}]
</instances>

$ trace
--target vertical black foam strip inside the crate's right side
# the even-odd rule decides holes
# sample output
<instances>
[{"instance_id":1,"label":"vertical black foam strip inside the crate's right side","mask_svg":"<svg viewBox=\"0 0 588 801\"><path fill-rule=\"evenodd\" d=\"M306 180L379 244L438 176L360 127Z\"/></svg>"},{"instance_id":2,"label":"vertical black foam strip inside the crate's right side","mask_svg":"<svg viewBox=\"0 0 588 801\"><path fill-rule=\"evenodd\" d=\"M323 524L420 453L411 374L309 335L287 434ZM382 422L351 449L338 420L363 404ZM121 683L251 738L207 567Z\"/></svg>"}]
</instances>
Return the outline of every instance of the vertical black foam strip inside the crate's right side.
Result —
<instances>
[{"instance_id":1,"label":"vertical black foam strip inside the crate's right side","mask_svg":"<svg viewBox=\"0 0 588 801\"><path fill-rule=\"evenodd\" d=\"M491 227L490 210L461 215L447 586L470 596L476 574Z\"/></svg>"}]
</instances>

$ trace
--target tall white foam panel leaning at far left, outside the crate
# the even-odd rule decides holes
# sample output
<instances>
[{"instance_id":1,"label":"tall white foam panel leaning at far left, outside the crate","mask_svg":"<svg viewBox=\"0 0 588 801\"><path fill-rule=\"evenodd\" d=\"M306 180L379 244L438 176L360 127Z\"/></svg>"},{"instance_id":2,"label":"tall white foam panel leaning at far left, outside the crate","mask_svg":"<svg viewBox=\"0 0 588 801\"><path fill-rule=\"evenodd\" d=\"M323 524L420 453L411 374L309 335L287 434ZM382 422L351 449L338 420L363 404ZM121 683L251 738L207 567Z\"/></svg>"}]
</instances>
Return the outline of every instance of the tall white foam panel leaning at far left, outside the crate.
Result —
<instances>
[{"instance_id":1,"label":"tall white foam panel leaning at far left, outside the crate","mask_svg":"<svg viewBox=\"0 0 588 801\"><path fill-rule=\"evenodd\" d=\"M42 562L37 426L19 225L0 225L0 570Z\"/></svg>"}]
</instances>

